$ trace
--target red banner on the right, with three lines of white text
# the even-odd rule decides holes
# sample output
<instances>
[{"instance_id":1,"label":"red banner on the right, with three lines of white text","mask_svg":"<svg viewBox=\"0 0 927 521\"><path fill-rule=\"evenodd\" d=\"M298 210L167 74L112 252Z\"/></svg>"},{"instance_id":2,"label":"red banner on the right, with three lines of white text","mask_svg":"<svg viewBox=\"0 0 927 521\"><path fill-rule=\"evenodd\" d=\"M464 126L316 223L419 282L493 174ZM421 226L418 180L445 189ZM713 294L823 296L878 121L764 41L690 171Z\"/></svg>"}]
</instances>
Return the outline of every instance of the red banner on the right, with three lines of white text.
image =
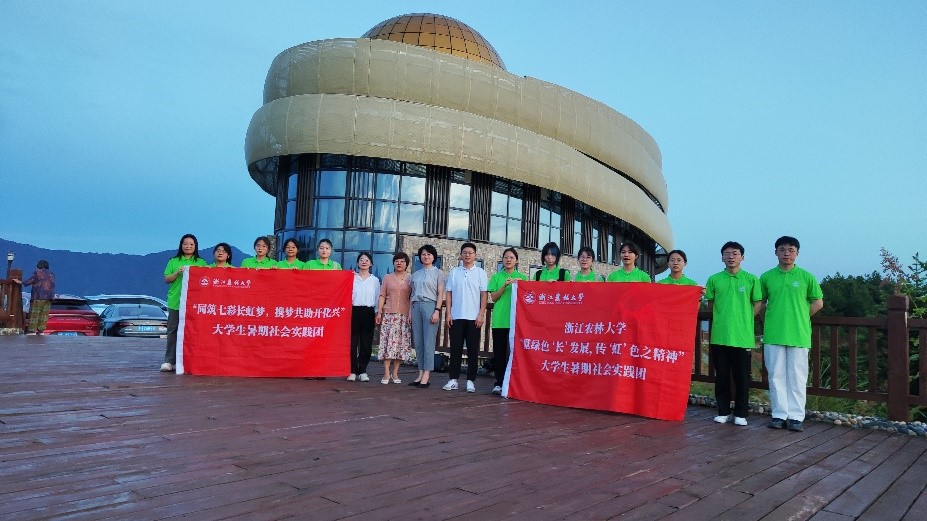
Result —
<instances>
[{"instance_id":1,"label":"red banner on the right, with three lines of white text","mask_svg":"<svg viewBox=\"0 0 927 521\"><path fill-rule=\"evenodd\" d=\"M701 288L519 281L503 395L685 417Z\"/></svg>"}]
</instances>

